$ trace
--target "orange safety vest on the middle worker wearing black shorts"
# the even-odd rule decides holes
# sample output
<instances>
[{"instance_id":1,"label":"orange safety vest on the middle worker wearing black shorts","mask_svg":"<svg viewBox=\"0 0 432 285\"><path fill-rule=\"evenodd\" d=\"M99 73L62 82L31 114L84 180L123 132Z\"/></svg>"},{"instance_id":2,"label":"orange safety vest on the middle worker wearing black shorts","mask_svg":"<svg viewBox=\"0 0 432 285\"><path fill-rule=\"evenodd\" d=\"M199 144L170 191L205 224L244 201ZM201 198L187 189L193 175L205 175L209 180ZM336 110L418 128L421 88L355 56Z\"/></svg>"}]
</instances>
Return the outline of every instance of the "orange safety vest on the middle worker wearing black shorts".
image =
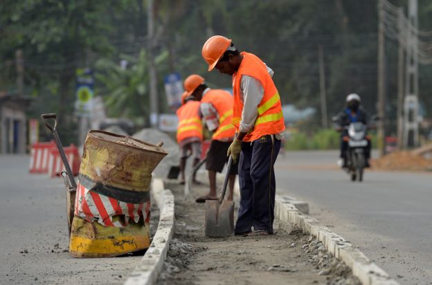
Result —
<instances>
[{"instance_id":1,"label":"orange safety vest on the middle worker wearing black shorts","mask_svg":"<svg viewBox=\"0 0 432 285\"><path fill-rule=\"evenodd\" d=\"M213 140L224 138L233 139L235 127L233 125L233 96L224 90L210 89L201 99L202 103L211 103L219 116L219 127L213 133Z\"/></svg>"}]
</instances>

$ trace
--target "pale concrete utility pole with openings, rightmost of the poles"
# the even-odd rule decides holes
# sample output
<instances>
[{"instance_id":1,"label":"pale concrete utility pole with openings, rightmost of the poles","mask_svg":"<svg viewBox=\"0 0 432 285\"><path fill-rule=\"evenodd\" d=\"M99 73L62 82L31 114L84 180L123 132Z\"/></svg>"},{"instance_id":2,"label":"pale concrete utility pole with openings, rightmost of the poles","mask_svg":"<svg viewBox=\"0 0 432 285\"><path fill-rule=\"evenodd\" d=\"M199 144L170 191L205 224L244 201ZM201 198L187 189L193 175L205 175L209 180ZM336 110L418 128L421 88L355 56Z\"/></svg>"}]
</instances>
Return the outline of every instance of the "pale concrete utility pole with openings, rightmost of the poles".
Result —
<instances>
[{"instance_id":1,"label":"pale concrete utility pole with openings, rightmost of the poles","mask_svg":"<svg viewBox=\"0 0 432 285\"><path fill-rule=\"evenodd\" d=\"M417 0L408 1L408 21L417 28ZM417 147L419 137L418 125L418 54L417 35L407 28L406 73L404 98L404 146Z\"/></svg>"}]
</instances>

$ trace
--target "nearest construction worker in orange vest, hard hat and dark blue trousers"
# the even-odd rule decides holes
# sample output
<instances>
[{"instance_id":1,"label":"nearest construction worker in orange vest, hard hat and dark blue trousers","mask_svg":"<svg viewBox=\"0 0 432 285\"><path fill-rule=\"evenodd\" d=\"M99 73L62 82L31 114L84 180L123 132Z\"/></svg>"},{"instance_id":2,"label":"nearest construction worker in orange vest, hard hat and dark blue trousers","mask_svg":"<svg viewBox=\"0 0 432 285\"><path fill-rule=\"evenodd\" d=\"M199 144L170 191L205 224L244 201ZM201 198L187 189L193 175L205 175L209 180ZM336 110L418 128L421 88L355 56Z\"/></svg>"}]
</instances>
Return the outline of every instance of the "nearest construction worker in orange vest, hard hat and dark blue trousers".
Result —
<instances>
[{"instance_id":1,"label":"nearest construction worker in orange vest, hard hat and dark blue trousers","mask_svg":"<svg viewBox=\"0 0 432 285\"><path fill-rule=\"evenodd\" d=\"M228 155L239 159L240 209L235 235L272 235L276 194L273 165L285 129L278 89L271 79L273 71L256 55L240 53L231 39L220 35L207 40L202 56L208 71L216 68L233 77L237 135Z\"/></svg>"}]
</instances>

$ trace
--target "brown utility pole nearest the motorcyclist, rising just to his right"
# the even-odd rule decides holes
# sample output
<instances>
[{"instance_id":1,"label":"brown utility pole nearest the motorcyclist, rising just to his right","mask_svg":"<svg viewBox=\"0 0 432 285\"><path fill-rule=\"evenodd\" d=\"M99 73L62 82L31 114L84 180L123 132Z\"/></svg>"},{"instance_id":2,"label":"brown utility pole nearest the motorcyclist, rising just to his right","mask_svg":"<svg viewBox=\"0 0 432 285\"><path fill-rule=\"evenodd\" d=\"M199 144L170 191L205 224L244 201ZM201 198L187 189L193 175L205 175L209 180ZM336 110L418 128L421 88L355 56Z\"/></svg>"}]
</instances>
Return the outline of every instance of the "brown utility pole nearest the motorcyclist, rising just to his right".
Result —
<instances>
[{"instance_id":1,"label":"brown utility pole nearest the motorcyclist, rising just to his right","mask_svg":"<svg viewBox=\"0 0 432 285\"><path fill-rule=\"evenodd\" d=\"M379 12L378 12L378 116L380 118L378 122L378 147L379 155L384 156L386 154L386 69L385 69L385 38L384 38L384 8L383 1L378 2Z\"/></svg>"}]
</instances>

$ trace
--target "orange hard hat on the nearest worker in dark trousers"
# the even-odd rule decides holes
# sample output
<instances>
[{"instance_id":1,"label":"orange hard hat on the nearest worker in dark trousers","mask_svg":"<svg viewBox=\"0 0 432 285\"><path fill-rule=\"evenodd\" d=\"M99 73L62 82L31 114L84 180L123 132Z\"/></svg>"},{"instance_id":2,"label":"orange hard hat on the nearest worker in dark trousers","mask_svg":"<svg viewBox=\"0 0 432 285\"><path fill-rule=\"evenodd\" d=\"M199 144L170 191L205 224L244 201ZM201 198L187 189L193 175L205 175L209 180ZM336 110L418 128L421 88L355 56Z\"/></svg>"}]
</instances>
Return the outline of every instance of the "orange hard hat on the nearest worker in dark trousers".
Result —
<instances>
[{"instance_id":1,"label":"orange hard hat on the nearest worker in dark trousers","mask_svg":"<svg viewBox=\"0 0 432 285\"><path fill-rule=\"evenodd\" d=\"M201 51L201 55L208 64L208 71L215 68L219 59L224 55L226 49L230 46L231 39L226 37L215 35L207 39Z\"/></svg>"}]
</instances>

